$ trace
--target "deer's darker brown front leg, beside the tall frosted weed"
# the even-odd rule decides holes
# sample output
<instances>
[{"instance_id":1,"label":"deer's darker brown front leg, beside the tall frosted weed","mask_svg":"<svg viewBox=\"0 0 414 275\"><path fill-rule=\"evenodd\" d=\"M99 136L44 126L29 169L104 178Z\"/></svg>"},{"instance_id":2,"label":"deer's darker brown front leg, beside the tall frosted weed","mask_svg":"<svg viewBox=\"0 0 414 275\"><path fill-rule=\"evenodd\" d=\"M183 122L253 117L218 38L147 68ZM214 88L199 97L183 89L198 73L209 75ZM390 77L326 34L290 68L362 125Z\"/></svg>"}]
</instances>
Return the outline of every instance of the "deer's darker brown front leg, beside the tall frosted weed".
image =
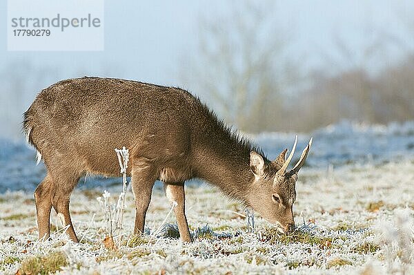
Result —
<instances>
[{"instance_id":1,"label":"deer's darker brown front leg, beside the tall frosted weed","mask_svg":"<svg viewBox=\"0 0 414 275\"><path fill-rule=\"evenodd\" d=\"M134 234L143 234L145 217L150 205L152 187L155 178L150 173L143 173L142 169L132 169L131 186L135 198L135 227Z\"/></svg>"}]
</instances>

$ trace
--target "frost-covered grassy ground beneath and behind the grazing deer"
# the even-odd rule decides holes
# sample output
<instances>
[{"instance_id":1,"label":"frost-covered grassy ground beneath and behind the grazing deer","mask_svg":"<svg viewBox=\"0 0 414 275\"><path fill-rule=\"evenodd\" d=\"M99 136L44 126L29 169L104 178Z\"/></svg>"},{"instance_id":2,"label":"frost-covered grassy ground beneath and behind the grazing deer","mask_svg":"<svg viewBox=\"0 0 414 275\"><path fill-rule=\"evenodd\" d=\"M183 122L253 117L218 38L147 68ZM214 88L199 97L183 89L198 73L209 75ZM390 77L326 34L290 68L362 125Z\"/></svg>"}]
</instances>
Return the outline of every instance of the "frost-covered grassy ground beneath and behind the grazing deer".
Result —
<instances>
[{"instance_id":1,"label":"frost-covered grassy ground beneath and behind the grazing deer","mask_svg":"<svg viewBox=\"0 0 414 275\"><path fill-rule=\"evenodd\" d=\"M72 194L72 220L81 244L61 233L54 213L52 240L39 243L32 190L43 167L34 166L34 152L26 146L0 142L0 272L37 266L61 267L63 274L414 274L414 123L343 123L313 136L308 166L297 182L299 229L294 234L276 235L259 216L255 232L249 233L242 206L206 184L186 187L194 243L177 240L172 226L151 234L163 227L170 210L157 186L148 234L115 251L103 246L105 222L96 198L104 188L115 196L121 190L119 178L81 180ZM294 134L253 138L274 158L292 145ZM299 135L299 148L307 138ZM126 205L127 238L134 220L132 194ZM175 218L168 216L166 222L173 224Z\"/></svg>"}]
</instances>

